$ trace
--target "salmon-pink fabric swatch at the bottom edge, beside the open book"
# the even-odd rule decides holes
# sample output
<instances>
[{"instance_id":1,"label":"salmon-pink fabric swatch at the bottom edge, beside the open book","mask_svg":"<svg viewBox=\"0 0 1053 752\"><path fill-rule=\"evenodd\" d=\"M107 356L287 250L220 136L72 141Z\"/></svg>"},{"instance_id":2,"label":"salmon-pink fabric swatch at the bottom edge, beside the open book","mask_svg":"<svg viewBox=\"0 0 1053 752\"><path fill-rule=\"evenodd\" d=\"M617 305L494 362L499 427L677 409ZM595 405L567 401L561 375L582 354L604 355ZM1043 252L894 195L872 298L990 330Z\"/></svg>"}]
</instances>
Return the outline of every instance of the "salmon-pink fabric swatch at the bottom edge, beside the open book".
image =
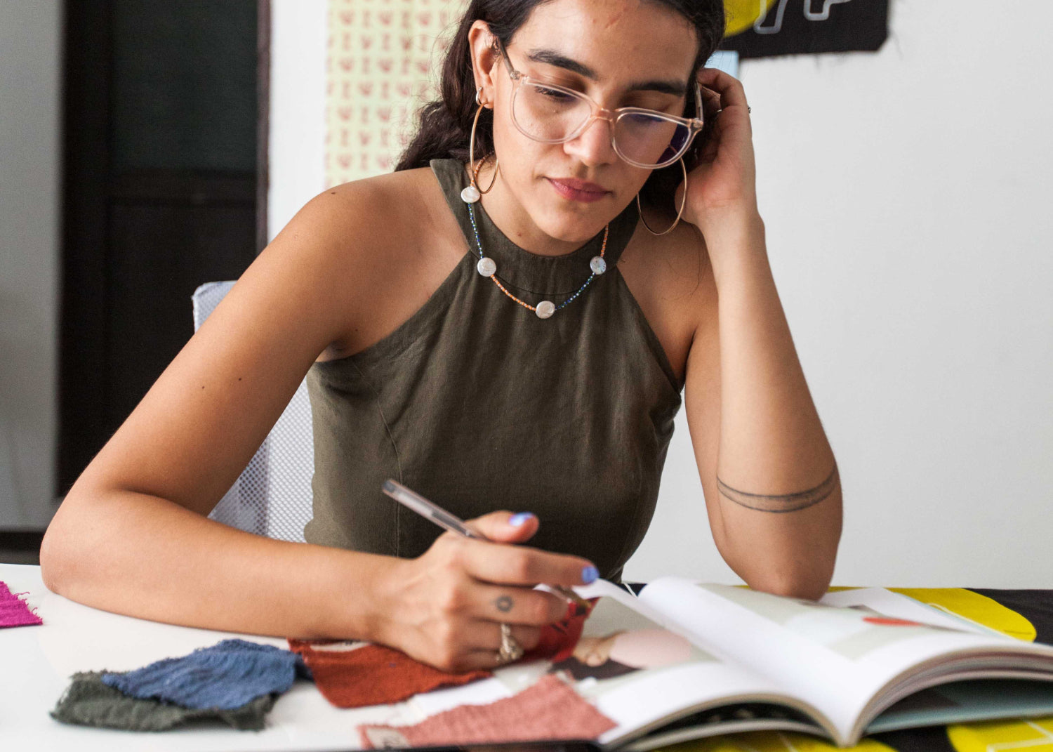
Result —
<instances>
[{"instance_id":1,"label":"salmon-pink fabric swatch at the bottom edge, beside the open book","mask_svg":"<svg viewBox=\"0 0 1053 752\"><path fill-rule=\"evenodd\" d=\"M557 676L490 705L464 705L414 726L360 726L367 749L595 739L617 724Z\"/></svg>"}]
</instances>

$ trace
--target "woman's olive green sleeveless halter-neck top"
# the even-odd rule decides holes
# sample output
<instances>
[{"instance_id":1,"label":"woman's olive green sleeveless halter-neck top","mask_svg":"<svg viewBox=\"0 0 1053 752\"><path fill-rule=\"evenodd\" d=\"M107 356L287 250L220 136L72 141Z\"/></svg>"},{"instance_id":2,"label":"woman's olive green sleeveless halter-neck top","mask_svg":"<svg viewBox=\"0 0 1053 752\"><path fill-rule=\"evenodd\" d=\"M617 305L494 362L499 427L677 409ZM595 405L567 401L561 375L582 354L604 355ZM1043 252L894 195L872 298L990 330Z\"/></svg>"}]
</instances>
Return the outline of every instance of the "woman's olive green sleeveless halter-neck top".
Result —
<instances>
[{"instance_id":1,"label":"woman's olive green sleeveless halter-neck top","mask_svg":"<svg viewBox=\"0 0 1053 752\"><path fill-rule=\"evenodd\" d=\"M658 497L681 384L617 261L636 229L610 223L607 273L549 319L476 271L465 164L431 167L470 251L428 301L365 350L307 374L314 420L309 542L414 557L442 533L385 496L394 478L462 519L533 512L530 546L619 579ZM531 254L474 204L484 254L517 297L557 305L589 278L601 230L577 251Z\"/></svg>"}]
</instances>

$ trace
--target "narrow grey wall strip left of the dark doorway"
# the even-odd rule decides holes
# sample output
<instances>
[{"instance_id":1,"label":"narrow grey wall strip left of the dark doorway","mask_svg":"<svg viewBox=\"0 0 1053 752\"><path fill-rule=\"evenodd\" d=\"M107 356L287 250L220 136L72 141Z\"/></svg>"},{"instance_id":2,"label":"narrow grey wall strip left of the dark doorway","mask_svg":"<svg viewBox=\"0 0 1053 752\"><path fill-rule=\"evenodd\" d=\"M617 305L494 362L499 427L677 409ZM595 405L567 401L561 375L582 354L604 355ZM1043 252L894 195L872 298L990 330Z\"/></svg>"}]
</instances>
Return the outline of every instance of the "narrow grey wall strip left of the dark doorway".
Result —
<instances>
[{"instance_id":1,"label":"narrow grey wall strip left of the dark doorway","mask_svg":"<svg viewBox=\"0 0 1053 752\"><path fill-rule=\"evenodd\" d=\"M0 529L55 509L61 24L0 2Z\"/></svg>"}]
</instances>

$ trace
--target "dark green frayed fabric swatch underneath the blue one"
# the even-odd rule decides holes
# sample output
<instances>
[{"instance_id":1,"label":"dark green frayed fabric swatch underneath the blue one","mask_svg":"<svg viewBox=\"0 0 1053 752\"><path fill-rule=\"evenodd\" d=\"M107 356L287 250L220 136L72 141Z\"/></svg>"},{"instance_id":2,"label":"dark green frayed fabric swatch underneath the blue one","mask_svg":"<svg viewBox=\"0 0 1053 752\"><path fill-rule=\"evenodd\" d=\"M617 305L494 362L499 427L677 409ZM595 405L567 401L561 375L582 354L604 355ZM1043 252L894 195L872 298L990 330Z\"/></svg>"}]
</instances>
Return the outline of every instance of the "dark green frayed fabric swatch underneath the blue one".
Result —
<instances>
[{"instance_id":1,"label":"dark green frayed fabric swatch underneath the blue one","mask_svg":"<svg viewBox=\"0 0 1053 752\"><path fill-rule=\"evenodd\" d=\"M130 697L103 684L102 675L101 671L74 674L52 717L63 724L127 731L165 731L212 718L242 731L259 731L275 700L275 695L264 694L231 710L181 708L158 699Z\"/></svg>"}]
</instances>

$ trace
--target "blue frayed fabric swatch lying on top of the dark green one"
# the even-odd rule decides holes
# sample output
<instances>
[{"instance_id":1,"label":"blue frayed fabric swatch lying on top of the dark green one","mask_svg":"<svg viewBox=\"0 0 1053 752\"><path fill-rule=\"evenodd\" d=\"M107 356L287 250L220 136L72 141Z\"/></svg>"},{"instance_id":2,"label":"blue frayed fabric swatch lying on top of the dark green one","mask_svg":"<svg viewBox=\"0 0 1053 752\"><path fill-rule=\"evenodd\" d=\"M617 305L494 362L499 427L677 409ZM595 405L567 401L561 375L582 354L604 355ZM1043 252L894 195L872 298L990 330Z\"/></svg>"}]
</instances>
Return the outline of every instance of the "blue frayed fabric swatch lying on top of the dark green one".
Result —
<instances>
[{"instance_id":1,"label":"blue frayed fabric swatch lying on top of the dark green one","mask_svg":"<svg viewBox=\"0 0 1053 752\"><path fill-rule=\"evenodd\" d=\"M244 639L224 639L135 671L105 672L102 682L139 699L159 699L195 710L234 710L257 697L285 692L297 674L310 676L296 653Z\"/></svg>"}]
</instances>

